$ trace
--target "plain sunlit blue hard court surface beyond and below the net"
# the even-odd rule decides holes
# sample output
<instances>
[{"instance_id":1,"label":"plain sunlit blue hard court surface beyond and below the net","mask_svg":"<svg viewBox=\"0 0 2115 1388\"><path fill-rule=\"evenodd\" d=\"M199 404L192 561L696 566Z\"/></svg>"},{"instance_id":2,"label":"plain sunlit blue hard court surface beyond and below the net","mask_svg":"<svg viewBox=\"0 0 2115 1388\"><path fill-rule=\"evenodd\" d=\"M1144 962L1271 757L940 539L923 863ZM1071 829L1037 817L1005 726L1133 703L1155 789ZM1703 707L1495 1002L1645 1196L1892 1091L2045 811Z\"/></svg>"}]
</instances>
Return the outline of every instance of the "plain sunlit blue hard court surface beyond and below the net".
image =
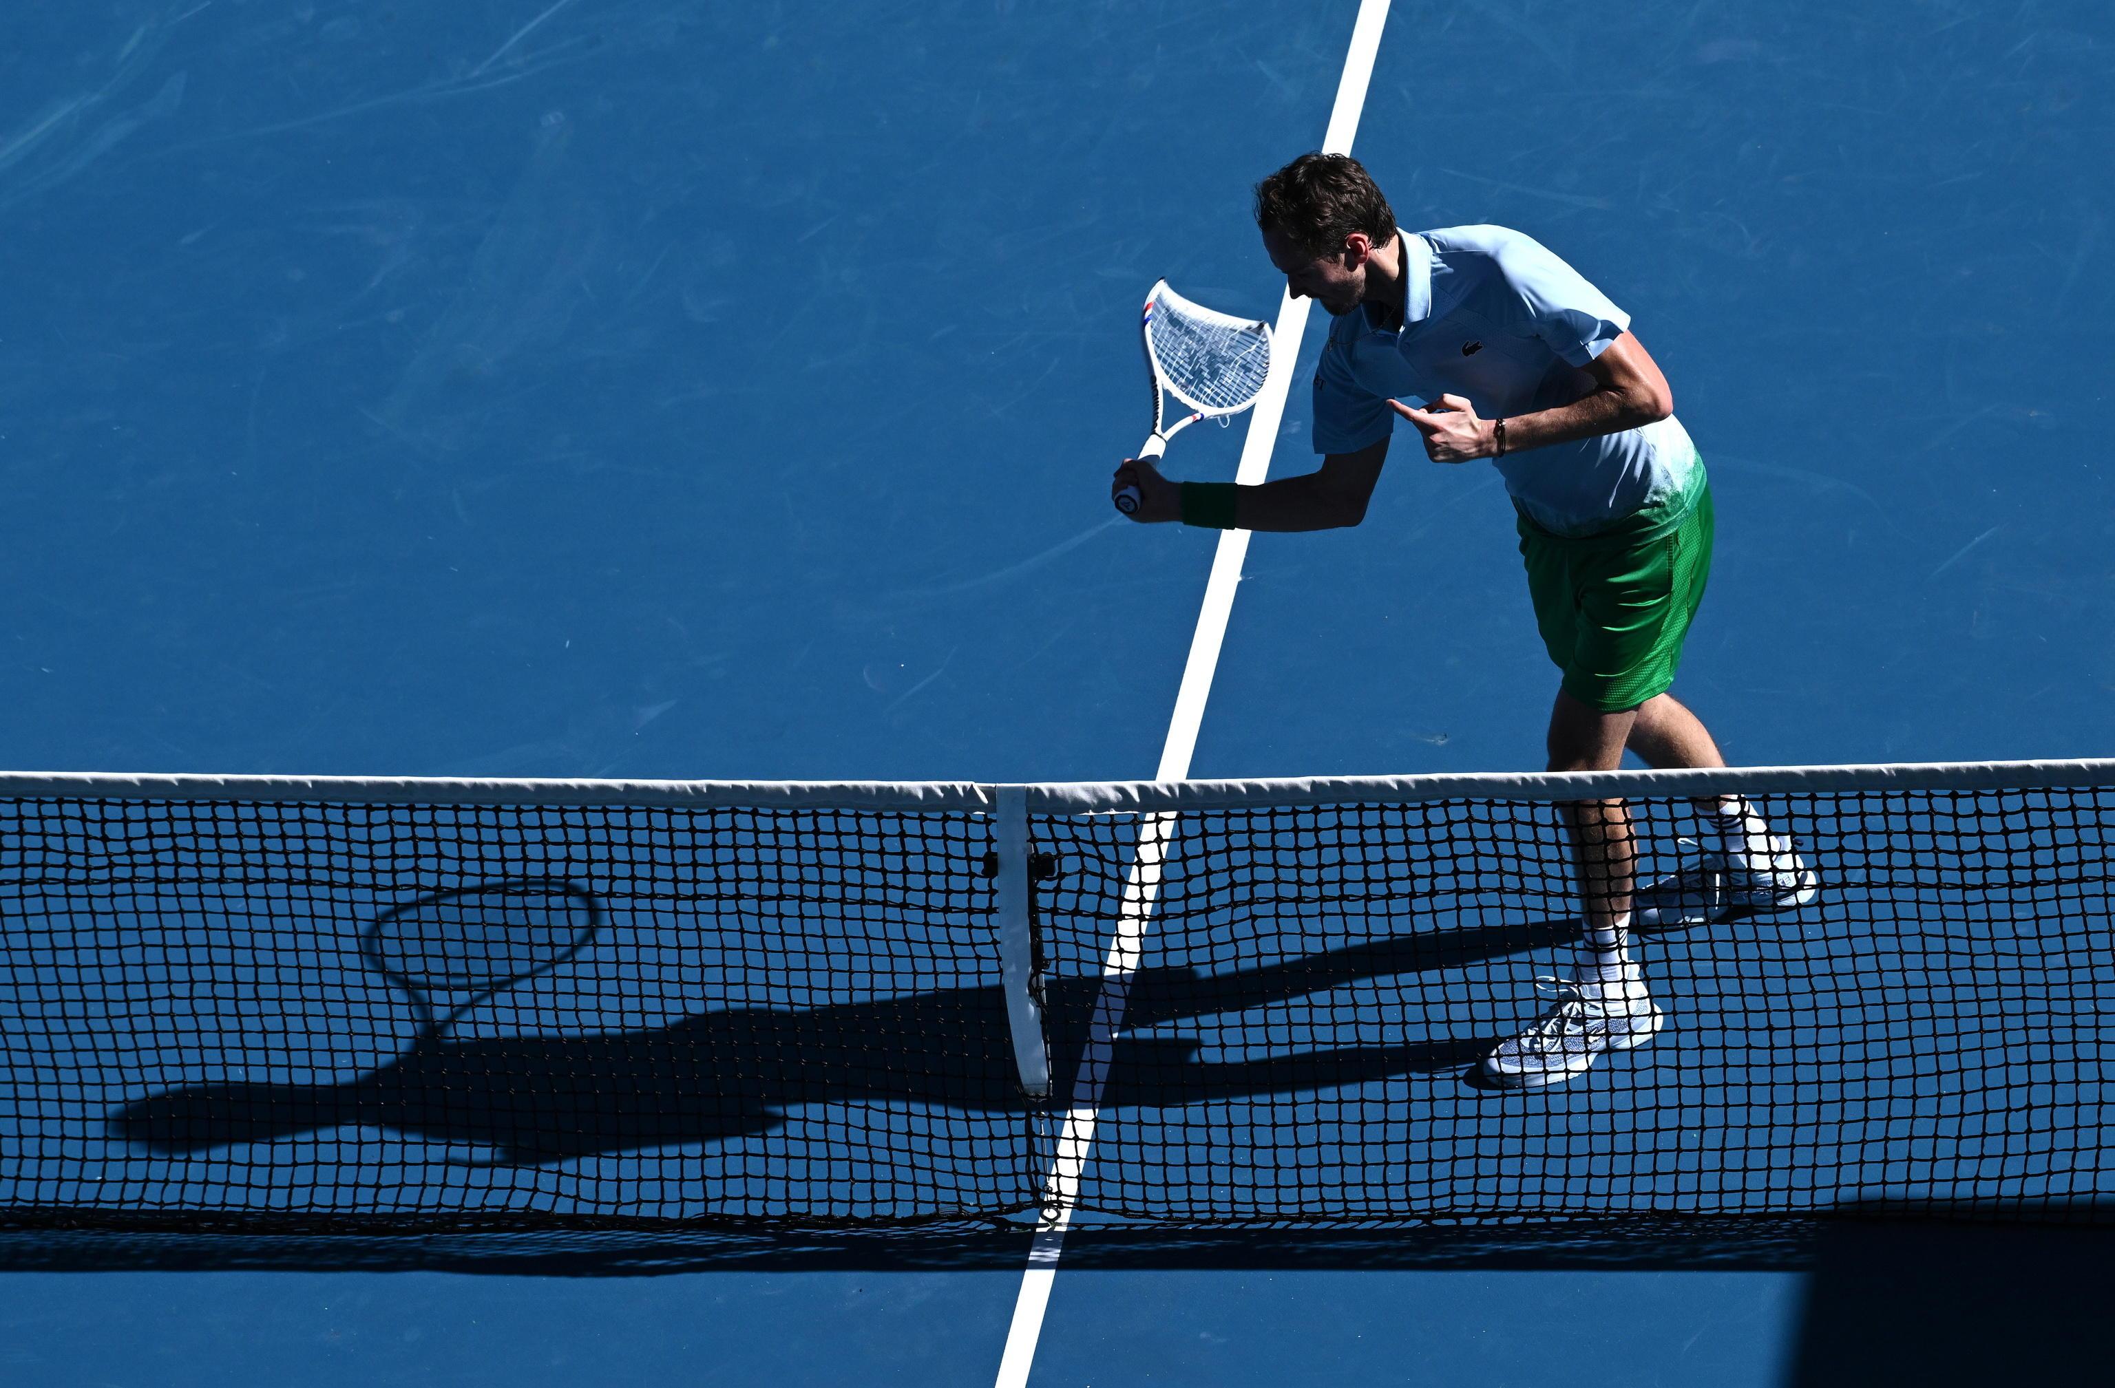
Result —
<instances>
[{"instance_id":1,"label":"plain sunlit blue hard court surface beyond and below the net","mask_svg":"<svg viewBox=\"0 0 2115 1388\"><path fill-rule=\"evenodd\" d=\"M1151 775L1212 537L1108 511L1138 300L1275 311L1248 190L1320 144L1356 11L11 15L0 765ZM1531 232L1667 370L1719 522L1677 693L1730 761L2104 754L2111 68L2083 2L1390 13L1356 152L1404 226ZM1296 387L1277 475L1307 427ZM1404 439L1360 528L1256 537L1193 773L1529 769L1552 687L1497 477ZM1787 946L1743 940L1762 974L1677 984L1713 1029L1768 1008ZM97 1031L30 1020L0 1044ZM0 1367L994 1380L1019 1263L857 1263L8 1272ZM1774 1384L1800 1297L1060 1265L1030 1382Z\"/></svg>"}]
</instances>

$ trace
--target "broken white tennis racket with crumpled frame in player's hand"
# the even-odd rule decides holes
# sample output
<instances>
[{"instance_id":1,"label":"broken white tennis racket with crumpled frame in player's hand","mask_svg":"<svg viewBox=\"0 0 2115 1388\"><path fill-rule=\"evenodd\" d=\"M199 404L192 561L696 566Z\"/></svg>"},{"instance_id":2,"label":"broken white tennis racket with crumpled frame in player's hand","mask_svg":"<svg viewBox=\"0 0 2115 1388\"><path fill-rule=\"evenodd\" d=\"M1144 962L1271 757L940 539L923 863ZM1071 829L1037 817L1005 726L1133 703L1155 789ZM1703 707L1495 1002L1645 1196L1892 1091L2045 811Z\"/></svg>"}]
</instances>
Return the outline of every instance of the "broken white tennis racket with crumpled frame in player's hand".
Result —
<instances>
[{"instance_id":1,"label":"broken white tennis racket with crumpled frame in player's hand","mask_svg":"<svg viewBox=\"0 0 2115 1388\"><path fill-rule=\"evenodd\" d=\"M1193 304L1170 289L1165 279L1146 294L1138 340L1146 349L1146 374L1153 378L1153 433L1138 450L1140 458L1161 456L1167 439L1201 418L1225 423L1250 408L1263 395L1263 378L1271 374L1269 323ZM1191 410L1172 425L1170 397ZM1117 488L1115 501L1129 515L1138 509L1138 488Z\"/></svg>"}]
</instances>

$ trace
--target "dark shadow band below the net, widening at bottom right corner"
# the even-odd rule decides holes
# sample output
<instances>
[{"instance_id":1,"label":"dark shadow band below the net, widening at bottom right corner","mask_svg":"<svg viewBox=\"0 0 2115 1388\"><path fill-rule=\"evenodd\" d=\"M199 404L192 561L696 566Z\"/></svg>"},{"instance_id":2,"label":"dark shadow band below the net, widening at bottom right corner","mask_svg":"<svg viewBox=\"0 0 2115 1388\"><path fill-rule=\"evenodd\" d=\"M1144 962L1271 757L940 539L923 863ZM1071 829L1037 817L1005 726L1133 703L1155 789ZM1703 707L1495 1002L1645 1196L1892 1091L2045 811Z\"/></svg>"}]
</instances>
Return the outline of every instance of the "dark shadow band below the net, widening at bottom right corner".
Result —
<instances>
[{"instance_id":1,"label":"dark shadow band below the net, widening at bottom right corner","mask_svg":"<svg viewBox=\"0 0 2115 1388\"><path fill-rule=\"evenodd\" d=\"M2066 1211L2062 1227L1961 1206L1933 1217L1849 1206L1802 1217L1622 1217L1516 1227L1191 1227L1074 1225L1074 1270L1485 1270L1485 1272L1806 1272L1800 1388L1872 1384L1876 1371L2022 1354L2020 1365L2085 1363L2079 1299L2115 1251L2115 1211ZM785 1230L719 1223L527 1234L247 1234L167 1230L0 1232L4 1272L463 1272L491 1276L673 1276L689 1272L1017 1272L1026 1221L897 1230ZM2090 1227L2102 1225L2102 1227ZM2009 1308L2020 1303L2020 1312ZM1992 1312L2007 1308L2003 1318ZM1980 1320L1992 1316L1988 1320ZM1978 1325L1984 1327L1978 1331ZM2068 1356L2068 1358L2060 1358ZM1984 1375L1975 1382L2007 1382ZM2083 1382L2083 1380L2077 1380Z\"/></svg>"}]
</instances>

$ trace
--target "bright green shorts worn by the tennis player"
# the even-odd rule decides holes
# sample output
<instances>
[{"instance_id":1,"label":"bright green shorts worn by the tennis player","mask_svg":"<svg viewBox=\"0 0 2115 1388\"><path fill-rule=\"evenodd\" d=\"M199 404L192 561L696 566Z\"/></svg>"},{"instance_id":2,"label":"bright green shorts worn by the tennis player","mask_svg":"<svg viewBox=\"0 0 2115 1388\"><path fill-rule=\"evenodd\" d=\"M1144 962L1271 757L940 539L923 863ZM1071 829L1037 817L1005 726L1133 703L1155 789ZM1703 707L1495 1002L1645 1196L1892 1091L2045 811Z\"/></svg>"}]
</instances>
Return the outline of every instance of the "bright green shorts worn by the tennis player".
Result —
<instances>
[{"instance_id":1,"label":"bright green shorts worn by the tennis player","mask_svg":"<svg viewBox=\"0 0 2115 1388\"><path fill-rule=\"evenodd\" d=\"M1535 625L1565 693L1601 712L1667 693L1711 577L1711 484L1599 534L1567 539L1521 513Z\"/></svg>"}]
</instances>

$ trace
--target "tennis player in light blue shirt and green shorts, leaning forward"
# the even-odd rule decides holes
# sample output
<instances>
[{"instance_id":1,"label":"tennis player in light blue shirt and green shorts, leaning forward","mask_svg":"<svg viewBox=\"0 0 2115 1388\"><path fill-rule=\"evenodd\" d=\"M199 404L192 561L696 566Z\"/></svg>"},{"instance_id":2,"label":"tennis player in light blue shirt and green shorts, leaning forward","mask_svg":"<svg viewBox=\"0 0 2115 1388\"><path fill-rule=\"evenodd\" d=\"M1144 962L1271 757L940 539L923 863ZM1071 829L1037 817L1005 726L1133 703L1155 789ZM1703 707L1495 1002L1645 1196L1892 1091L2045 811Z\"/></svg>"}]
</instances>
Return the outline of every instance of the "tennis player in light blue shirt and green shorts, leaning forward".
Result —
<instances>
[{"instance_id":1,"label":"tennis player in light blue shirt and green shorts, leaning forward","mask_svg":"<svg viewBox=\"0 0 2115 1388\"><path fill-rule=\"evenodd\" d=\"M1631 317L1504 226L1404 232L1358 161L1303 154L1256 184L1256 226L1294 298L1332 315L1316 370L1320 471L1263 486L1170 482L1125 461L1134 520L1242 530L1356 526L1396 420L1434 463L1489 458L1519 515L1535 625L1563 672L1550 771L1722 767L1669 687L1711 570L1711 484ZM1426 401L1406 406L1398 397ZM1555 1008L1483 1075L1561 1084L1662 1016L1631 955L1633 923L1673 930L1806 904L1815 875L1743 796L1700 803L1715 851L1641 892L1622 801L1565 805L1586 940Z\"/></svg>"}]
</instances>

